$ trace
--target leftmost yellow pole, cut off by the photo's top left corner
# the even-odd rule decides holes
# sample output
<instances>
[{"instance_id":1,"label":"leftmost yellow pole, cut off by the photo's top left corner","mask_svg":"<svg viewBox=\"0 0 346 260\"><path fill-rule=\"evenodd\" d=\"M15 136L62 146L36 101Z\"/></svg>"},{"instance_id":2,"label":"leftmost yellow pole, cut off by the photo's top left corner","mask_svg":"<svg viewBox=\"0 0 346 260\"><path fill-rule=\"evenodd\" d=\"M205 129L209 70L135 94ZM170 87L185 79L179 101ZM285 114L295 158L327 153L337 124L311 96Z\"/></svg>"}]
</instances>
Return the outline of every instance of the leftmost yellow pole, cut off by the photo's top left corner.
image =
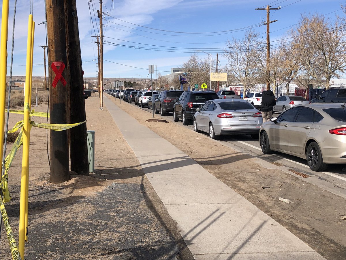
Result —
<instances>
[{"instance_id":1,"label":"leftmost yellow pole, cut off by the photo's top left corner","mask_svg":"<svg viewBox=\"0 0 346 260\"><path fill-rule=\"evenodd\" d=\"M0 36L0 165L3 154L3 131L5 127L5 99L7 73L7 34L8 34L9 0L2 1L1 36ZM0 166L1 167L1 166Z\"/></svg>"}]
</instances>

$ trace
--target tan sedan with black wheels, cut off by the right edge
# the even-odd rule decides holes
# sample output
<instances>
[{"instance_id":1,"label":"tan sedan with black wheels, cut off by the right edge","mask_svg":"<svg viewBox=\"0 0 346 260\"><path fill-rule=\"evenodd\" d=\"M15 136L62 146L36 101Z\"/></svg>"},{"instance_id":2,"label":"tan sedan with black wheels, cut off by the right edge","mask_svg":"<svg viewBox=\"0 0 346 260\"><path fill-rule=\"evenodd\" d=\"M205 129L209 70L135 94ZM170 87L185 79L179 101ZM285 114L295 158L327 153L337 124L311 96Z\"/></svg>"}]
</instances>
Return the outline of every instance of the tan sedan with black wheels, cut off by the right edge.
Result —
<instances>
[{"instance_id":1,"label":"tan sedan with black wheels, cut off by the right edge","mask_svg":"<svg viewBox=\"0 0 346 260\"><path fill-rule=\"evenodd\" d=\"M307 104L292 107L262 124L260 145L307 160L312 171L328 164L346 163L346 108L343 104Z\"/></svg>"}]
</instances>

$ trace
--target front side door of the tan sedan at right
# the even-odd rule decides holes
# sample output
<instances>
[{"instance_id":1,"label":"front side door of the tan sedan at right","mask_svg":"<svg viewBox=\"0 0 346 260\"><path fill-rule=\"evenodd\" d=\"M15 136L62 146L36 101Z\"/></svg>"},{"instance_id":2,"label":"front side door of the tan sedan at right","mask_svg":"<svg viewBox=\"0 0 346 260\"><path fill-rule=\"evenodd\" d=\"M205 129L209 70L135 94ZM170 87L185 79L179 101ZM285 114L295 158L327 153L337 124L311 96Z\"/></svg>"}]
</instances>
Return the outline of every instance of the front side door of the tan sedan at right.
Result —
<instances>
[{"instance_id":1,"label":"front side door of the tan sedan at right","mask_svg":"<svg viewBox=\"0 0 346 260\"><path fill-rule=\"evenodd\" d=\"M294 122L300 107L293 107L283 112L276 124L272 124L268 131L270 146L275 150L288 151L291 140L288 138L290 125Z\"/></svg>"}]
</instances>

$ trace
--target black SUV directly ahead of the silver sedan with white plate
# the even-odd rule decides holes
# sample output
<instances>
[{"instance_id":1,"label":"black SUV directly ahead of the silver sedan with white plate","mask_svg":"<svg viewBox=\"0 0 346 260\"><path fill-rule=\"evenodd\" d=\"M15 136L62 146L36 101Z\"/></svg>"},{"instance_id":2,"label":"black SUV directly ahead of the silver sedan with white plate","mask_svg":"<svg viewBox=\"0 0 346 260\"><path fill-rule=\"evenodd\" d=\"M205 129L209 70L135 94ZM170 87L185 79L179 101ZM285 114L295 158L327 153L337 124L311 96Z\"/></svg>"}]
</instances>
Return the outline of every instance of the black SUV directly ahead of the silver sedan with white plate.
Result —
<instances>
[{"instance_id":1,"label":"black SUV directly ahead of the silver sedan with white plate","mask_svg":"<svg viewBox=\"0 0 346 260\"><path fill-rule=\"evenodd\" d=\"M173 106L173 120L177 122L181 118L183 125L188 125L196 109L212 99L219 99L219 96L209 91L185 91Z\"/></svg>"}]
</instances>

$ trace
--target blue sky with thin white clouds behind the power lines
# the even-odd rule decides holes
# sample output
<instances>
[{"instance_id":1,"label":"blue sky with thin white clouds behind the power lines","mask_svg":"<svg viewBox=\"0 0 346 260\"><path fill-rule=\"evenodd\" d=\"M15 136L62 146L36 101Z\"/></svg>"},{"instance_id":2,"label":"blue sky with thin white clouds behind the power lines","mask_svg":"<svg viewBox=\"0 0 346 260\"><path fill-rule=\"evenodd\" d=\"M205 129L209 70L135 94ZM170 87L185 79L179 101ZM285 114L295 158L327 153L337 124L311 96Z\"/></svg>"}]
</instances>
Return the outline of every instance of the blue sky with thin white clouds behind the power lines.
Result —
<instances>
[{"instance_id":1,"label":"blue sky with thin white clouds behind the power lines","mask_svg":"<svg viewBox=\"0 0 346 260\"><path fill-rule=\"evenodd\" d=\"M13 2L10 1L9 54L11 52ZM225 47L227 40L233 37L242 38L245 31L235 30L234 32L211 34L195 33L229 31L251 25L254 25L253 29L256 31L264 33L266 30L265 26L258 26L258 24L265 20L266 12L264 10L255 10L255 8L268 4L273 8L282 7L281 10L271 11L271 20L278 20L271 24L272 41L285 35L286 31L290 29L285 27L297 24L301 13L317 12L319 14L327 14L331 12L329 14L331 19L334 19L336 15L343 15L342 10L340 10L340 1L333 0L103 0L103 4L103 12L108 14L105 15L105 20L103 21L105 41L105 61L103 67L104 77L107 78L139 78L140 76L138 75L146 78L149 63L157 65L157 70L161 71L162 75L165 75L169 73L172 67L181 67L183 62L187 61L191 55L188 52L195 50L218 52L220 66L224 66L227 60L222 56L222 49ZM25 65L26 59L29 10L30 1L17 1L15 54L13 58L15 67L13 67L12 72L14 76L25 75L25 66L22 65ZM96 77L97 45L93 43L95 38L91 36L95 35L95 32L98 34L99 30L99 22L95 20L95 17L97 18L95 11L99 10L99 0L77 0L77 10L84 77ZM43 76L43 49L39 45L45 45L46 43L45 26L43 24L38 25L45 20L43 0L34 1L33 15L36 22L33 76ZM138 25L165 31L153 30ZM263 39L265 40L265 34L263 34ZM106 41L110 42L110 44L107 44ZM114 46L114 44L136 47ZM142 47L167 50L145 50ZM178 48L181 48L179 51L182 52L172 52ZM185 51L186 48L194 49ZM209 57L203 52L198 53L198 55L201 58ZM212 55L213 59L215 59L216 53ZM93 61L94 59L96 60ZM10 55L8 58L9 64Z\"/></svg>"}]
</instances>

